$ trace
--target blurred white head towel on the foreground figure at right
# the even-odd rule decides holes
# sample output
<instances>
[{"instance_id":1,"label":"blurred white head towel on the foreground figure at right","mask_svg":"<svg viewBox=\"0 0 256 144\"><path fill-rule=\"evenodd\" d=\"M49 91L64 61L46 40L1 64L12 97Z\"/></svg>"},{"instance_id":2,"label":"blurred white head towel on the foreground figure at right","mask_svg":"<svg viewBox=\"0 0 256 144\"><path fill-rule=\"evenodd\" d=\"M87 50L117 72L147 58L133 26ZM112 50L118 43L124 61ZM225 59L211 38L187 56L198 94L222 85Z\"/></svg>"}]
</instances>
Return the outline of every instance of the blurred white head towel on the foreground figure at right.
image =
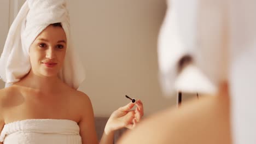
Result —
<instances>
[{"instance_id":1,"label":"blurred white head towel on the foreground figure at right","mask_svg":"<svg viewBox=\"0 0 256 144\"><path fill-rule=\"evenodd\" d=\"M167 2L158 43L162 90L165 94L174 91L215 93L219 82L228 77L223 14L226 3L221 0ZM179 62L185 56L191 58L193 67L185 69L188 73L180 73Z\"/></svg>"}]
</instances>

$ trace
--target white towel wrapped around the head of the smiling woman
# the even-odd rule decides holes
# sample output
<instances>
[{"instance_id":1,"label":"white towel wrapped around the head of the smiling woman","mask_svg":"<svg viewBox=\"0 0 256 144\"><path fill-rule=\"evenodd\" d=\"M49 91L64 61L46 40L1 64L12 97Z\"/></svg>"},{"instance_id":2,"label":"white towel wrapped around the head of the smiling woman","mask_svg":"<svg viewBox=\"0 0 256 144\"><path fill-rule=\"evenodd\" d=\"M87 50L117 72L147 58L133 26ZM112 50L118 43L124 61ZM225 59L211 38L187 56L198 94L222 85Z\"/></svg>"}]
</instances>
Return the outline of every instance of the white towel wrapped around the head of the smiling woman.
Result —
<instances>
[{"instance_id":1,"label":"white towel wrapped around the head of the smiling woman","mask_svg":"<svg viewBox=\"0 0 256 144\"><path fill-rule=\"evenodd\" d=\"M0 58L0 77L10 86L31 69L29 50L34 39L50 24L61 23L67 37L60 79L77 89L85 79L82 63L71 44L69 13L65 0L27 0L12 23Z\"/></svg>"}]
</instances>

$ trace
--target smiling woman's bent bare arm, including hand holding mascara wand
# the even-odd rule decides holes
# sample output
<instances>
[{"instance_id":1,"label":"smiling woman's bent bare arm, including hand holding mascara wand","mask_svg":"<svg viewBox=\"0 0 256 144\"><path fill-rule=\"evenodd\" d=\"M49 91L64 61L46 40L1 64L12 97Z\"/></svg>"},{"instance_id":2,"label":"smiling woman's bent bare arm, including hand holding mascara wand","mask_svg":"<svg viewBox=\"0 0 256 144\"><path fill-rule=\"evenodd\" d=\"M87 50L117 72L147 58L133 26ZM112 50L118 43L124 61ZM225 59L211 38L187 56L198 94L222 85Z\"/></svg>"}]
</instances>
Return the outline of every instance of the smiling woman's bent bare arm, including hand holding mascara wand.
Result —
<instances>
[{"instance_id":1,"label":"smiling woman's bent bare arm, including hand holding mascara wand","mask_svg":"<svg viewBox=\"0 0 256 144\"><path fill-rule=\"evenodd\" d=\"M80 120L80 136L82 137L83 144L85 143L98 143L94 112L92 110L92 105L89 97L83 93L82 99L82 118ZM133 106L137 106L135 110L131 110ZM143 116L143 104L141 100L137 100L136 103L129 103L126 106L120 107L118 110L114 111L104 128L104 133L102 135L101 144L113 144L114 131L121 128L132 129L135 127L136 123L140 121Z\"/></svg>"}]
</instances>

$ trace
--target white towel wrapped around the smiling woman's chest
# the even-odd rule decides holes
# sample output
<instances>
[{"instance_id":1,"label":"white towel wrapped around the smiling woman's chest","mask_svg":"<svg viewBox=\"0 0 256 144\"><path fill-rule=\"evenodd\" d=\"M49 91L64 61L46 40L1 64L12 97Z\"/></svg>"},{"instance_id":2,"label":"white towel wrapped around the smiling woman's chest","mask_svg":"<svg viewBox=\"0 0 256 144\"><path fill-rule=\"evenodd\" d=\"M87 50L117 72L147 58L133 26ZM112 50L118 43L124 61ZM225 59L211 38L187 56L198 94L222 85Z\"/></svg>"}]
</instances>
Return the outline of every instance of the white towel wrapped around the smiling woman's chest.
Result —
<instances>
[{"instance_id":1,"label":"white towel wrapped around the smiling woman's chest","mask_svg":"<svg viewBox=\"0 0 256 144\"><path fill-rule=\"evenodd\" d=\"M79 126L67 119L25 119L5 124L0 135L5 144L81 144Z\"/></svg>"}]
</instances>

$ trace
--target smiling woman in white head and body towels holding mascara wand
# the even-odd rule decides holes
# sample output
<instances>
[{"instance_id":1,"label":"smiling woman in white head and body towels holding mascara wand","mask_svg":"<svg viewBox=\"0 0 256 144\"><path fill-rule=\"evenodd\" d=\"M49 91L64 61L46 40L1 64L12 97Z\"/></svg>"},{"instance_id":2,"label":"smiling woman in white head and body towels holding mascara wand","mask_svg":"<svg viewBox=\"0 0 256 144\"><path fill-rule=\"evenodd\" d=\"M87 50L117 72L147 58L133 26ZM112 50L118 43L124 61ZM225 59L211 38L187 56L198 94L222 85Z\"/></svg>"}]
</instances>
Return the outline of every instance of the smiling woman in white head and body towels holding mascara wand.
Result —
<instances>
[{"instance_id":1,"label":"smiling woman in white head and body towels holding mascara wand","mask_svg":"<svg viewBox=\"0 0 256 144\"><path fill-rule=\"evenodd\" d=\"M65 1L25 2L0 64L8 84L0 90L1 142L98 143L91 101L77 91L84 73L70 43ZM140 100L120 107L100 143L113 143L115 130L132 129L142 116Z\"/></svg>"}]
</instances>

